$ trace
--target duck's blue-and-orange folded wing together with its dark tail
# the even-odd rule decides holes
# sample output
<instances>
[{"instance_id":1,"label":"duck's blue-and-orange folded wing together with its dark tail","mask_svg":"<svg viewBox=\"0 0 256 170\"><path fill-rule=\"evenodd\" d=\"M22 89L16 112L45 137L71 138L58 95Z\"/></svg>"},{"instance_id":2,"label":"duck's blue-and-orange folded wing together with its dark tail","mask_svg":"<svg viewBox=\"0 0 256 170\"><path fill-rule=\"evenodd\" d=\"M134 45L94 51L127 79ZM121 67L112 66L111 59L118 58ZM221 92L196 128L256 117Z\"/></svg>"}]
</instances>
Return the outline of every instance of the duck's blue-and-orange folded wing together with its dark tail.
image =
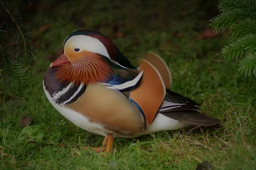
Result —
<instances>
[{"instance_id":1,"label":"duck's blue-and-orange folded wing together with its dark tail","mask_svg":"<svg viewBox=\"0 0 256 170\"><path fill-rule=\"evenodd\" d=\"M144 60L143 63L140 65L140 72L136 69L113 69L112 78L106 85L119 91L134 104L144 118L145 127L151 125L157 113L189 125L213 126L219 124L218 119L210 118L198 112L200 104L188 97L165 89L166 92L162 93L162 95L165 95L164 100L159 96L157 98L157 94L161 94L162 91L156 90L157 87L163 89L161 87L165 87L165 84L154 65L147 60ZM154 79L152 77L160 78ZM156 94L152 92L156 92ZM160 104L160 101L162 101L162 104ZM160 108L157 108L157 105L160 105Z\"/></svg>"}]
</instances>

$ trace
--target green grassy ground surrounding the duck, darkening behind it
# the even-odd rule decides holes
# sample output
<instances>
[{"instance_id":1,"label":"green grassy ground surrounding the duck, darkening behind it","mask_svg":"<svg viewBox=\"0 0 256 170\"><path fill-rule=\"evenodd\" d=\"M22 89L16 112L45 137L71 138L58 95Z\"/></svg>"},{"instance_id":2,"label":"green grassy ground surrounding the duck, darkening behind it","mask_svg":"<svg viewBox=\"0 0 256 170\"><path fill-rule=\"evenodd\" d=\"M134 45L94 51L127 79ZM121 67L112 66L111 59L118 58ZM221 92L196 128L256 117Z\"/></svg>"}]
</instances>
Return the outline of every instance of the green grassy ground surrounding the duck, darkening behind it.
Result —
<instances>
[{"instance_id":1,"label":"green grassy ground surrounding the duck, darkening behind it","mask_svg":"<svg viewBox=\"0 0 256 170\"><path fill-rule=\"evenodd\" d=\"M29 79L22 87L0 80L0 169L193 170L206 160L215 170L255 169L256 79L240 75L238 61L222 59L227 34L198 38L216 14L217 4L204 2L47 0L28 14L36 62L26 66ZM42 88L64 39L81 28L111 37L135 65L145 51L160 54L172 71L171 90L201 103L202 112L222 125L115 139L107 156L82 150L100 146L103 137L61 116ZM24 113L33 123L22 128Z\"/></svg>"}]
</instances>

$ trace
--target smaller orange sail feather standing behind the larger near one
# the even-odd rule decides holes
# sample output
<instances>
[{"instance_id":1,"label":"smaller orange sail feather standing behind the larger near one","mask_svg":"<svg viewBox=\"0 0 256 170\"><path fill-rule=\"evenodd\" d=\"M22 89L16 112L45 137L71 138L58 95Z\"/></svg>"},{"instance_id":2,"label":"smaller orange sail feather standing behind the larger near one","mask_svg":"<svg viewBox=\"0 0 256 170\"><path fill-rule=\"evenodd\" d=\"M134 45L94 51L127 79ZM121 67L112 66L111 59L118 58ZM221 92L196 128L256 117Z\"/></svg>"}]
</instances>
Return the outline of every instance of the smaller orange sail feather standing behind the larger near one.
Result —
<instances>
[{"instance_id":1,"label":"smaller orange sail feather standing behind the larger near one","mask_svg":"<svg viewBox=\"0 0 256 170\"><path fill-rule=\"evenodd\" d=\"M166 62L159 55L153 53L152 51L148 51L145 54L144 59L148 60L152 65L154 65L155 68L157 68L163 78L165 87L169 89L172 84L172 74L166 65Z\"/></svg>"}]
</instances>

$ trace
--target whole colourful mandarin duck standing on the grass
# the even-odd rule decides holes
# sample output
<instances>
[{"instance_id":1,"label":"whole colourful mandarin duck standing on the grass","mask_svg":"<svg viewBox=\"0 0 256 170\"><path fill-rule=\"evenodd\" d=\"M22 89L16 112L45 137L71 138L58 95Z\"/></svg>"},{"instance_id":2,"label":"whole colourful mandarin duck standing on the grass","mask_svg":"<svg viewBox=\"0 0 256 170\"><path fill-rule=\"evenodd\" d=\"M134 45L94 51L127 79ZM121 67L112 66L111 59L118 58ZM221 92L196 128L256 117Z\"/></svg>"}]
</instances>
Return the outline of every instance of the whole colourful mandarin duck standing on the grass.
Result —
<instances>
[{"instance_id":1,"label":"whole colourful mandarin duck standing on the grass","mask_svg":"<svg viewBox=\"0 0 256 170\"><path fill-rule=\"evenodd\" d=\"M157 54L147 52L136 68L105 35L78 30L64 40L43 87L64 117L105 136L102 147L93 150L111 152L115 137L219 124L200 113L197 102L170 91L171 83L169 68Z\"/></svg>"}]
</instances>

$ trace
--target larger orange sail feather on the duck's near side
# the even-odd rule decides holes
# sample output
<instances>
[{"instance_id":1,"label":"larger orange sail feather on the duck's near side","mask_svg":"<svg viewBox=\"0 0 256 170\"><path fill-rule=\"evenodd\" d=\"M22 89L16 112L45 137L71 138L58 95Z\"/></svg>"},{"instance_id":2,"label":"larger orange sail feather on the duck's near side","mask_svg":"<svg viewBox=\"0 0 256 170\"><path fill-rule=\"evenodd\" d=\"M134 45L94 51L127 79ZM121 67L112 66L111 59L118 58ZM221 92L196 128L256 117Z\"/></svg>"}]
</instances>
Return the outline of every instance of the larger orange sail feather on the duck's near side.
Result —
<instances>
[{"instance_id":1,"label":"larger orange sail feather on the duck's near side","mask_svg":"<svg viewBox=\"0 0 256 170\"><path fill-rule=\"evenodd\" d=\"M166 88L160 73L145 59L140 63L141 71L143 71L141 83L138 88L130 92L130 96L144 111L149 126L163 102Z\"/></svg>"}]
</instances>

